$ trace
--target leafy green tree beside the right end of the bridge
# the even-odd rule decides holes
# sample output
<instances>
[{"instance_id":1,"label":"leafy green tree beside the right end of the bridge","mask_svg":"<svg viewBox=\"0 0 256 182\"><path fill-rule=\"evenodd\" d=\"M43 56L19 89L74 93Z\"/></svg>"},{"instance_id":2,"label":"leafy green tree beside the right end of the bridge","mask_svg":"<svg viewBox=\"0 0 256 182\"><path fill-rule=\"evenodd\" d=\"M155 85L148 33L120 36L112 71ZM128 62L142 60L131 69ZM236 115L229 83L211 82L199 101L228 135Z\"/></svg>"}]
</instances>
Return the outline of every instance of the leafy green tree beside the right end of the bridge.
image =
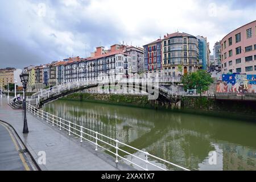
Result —
<instances>
[{"instance_id":1,"label":"leafy green tree beside the right end of the bridge","mask_svg":"<svg viewBox=\"0 0 256 182\"><path fill-rule=\"evenodd\" d=\"M182 78L182 83L184 89L196 89L200 96L202 92L205 92L209 89L209 86L213 83L213 78L209 73L200 69L196 72L184 75Z\"/></svg>"}]
</instances>

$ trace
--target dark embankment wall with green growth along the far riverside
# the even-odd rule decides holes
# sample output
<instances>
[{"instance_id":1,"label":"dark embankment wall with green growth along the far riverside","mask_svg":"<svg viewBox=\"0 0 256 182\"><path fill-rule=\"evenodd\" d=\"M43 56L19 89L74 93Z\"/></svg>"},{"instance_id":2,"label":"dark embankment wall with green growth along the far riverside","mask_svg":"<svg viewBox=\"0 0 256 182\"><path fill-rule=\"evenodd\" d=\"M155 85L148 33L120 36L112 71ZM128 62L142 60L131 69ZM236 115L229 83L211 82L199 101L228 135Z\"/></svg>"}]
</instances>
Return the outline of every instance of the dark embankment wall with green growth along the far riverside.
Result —
<instances>
[{"instance_id":1,"label":"dark embankment wall with green growth along the far riverside","mask_svg":"<svg viewBox=\"0 0 256 182\"><path fill-rule=\"evenodd\" d=\"M214 98L185 96L176 105L166 106L158 101L148 100L146 95L98 93L74 93L61 98L61 100L96 102L256 121L256 102L250 101L220 101L214 100Z\"/></svg>"}]
</instances>

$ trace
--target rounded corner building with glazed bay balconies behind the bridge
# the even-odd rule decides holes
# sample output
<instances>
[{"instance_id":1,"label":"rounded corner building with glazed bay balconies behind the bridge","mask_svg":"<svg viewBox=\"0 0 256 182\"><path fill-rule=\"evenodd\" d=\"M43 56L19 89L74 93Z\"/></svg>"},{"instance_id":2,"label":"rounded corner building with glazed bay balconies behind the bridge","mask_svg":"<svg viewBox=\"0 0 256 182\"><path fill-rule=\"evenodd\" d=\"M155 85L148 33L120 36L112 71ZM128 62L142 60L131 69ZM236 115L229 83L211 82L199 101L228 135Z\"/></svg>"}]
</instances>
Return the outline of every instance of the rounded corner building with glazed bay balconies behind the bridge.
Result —
<instances>
[{"instance_id":1,"label":"rounded corner building with glazed bay balconies behind the bridge","mask_svg":"<svg viewBox=\"0 0 256 182\"><path fill-rule=\"evenodd\" d=\"M175 32L162 40L164 76L179 76L199 69L199 48L195 36Z\"/></svg>"}]
</instances>

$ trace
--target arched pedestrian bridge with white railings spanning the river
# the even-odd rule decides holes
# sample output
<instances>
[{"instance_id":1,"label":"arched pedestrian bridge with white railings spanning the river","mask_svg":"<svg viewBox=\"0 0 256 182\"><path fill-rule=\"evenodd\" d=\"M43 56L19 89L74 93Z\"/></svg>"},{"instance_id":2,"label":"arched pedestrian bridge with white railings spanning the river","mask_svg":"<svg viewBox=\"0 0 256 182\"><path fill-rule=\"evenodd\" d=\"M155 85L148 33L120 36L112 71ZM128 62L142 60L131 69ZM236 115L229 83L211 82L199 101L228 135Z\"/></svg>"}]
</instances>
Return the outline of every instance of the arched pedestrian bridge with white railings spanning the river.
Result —
<instances>
[{"instance_id":1,"label":"arched pedestrian bridge with white railings spanning the river","mask_svg":"<svg viewBox=\"0 0 256 182\"><path fill-rule=\"evenodd\" d=\"M184 95L183 92L171 93L162 82L158 80L125 80L125 81L81 81L81 82L68 82L61 85L53 86L52 88L41 90L32 95L35 104L38 108L47 102L57 100L58 98L67 96L72 93L80 92L81 90L101 88L101 87L114 87L113 90L108 90L107 93L117 93L117 90L125 90L128 92L138 92L148 94L149 100L157 100L159 102L177 102L179 98Z\"/></svg>"}]
</instances>

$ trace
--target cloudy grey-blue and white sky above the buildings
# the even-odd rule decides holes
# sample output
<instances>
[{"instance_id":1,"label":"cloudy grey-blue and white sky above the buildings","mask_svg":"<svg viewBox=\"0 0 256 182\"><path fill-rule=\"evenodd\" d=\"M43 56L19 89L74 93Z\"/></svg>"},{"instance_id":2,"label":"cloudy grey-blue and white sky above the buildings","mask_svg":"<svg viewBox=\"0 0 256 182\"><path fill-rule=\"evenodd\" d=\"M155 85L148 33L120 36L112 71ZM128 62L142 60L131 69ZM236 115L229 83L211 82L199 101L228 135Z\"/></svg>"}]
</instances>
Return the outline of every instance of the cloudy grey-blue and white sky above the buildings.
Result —
<instances>
[{"instance_id":1,"label":"cloudy grey-blue and white sky above the buildings","mask_svg":"<svg viewBox=\"0 0 256 182\"><path fill-rule=\"evenodd\" d=\"M143 46L179 30L207 36L210 49L256 19L254 0L0 1L0 68L85 57L97 46Z\"/></svg>"}]
</instances>

